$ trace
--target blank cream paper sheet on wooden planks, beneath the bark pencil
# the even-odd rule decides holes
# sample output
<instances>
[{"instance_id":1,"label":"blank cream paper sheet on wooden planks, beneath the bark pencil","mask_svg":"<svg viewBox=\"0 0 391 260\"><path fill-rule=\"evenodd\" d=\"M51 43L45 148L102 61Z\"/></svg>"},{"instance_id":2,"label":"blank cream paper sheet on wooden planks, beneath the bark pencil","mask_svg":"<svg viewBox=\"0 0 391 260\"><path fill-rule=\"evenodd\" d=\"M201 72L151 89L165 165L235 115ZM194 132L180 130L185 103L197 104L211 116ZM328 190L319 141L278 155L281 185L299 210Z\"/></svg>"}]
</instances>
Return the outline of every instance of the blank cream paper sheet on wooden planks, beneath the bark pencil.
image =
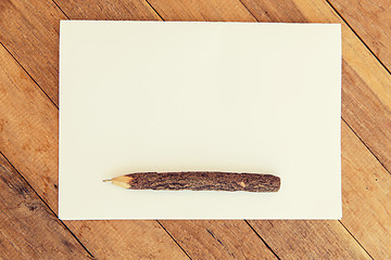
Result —
<instances>
[{"instance_id":1,"label":"blank cream paper sheet on wooden planks, beneath the bark pencil","mask_svg":"<svg viewBox=\"0 0 391 260\"><path fill-rule=\"evenodd\" d=\"M60 218L340 219L340 25L62 21ZM195 170L281 188L102 182Z\"/></svg>"}]
</instances>

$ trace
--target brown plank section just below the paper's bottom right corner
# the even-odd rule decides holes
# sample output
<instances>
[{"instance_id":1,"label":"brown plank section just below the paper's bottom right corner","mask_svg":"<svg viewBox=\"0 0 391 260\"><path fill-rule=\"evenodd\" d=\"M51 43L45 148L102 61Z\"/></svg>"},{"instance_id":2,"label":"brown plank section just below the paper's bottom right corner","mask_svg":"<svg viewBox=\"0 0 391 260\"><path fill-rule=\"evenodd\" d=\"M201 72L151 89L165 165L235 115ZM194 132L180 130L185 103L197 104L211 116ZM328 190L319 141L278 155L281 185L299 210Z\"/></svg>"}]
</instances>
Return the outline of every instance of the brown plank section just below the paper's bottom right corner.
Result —
<instances>
[{"instance_id":1,"label":"brown plank section just below the paper's bottom right corner","mask_svg":"<svg viewBox=\"0 0 391 260\"><path fill-rule=\"evenodd\" d=\"M249 220L278 257L370 259L337 220Z\"/></svg>"}]
</instances>

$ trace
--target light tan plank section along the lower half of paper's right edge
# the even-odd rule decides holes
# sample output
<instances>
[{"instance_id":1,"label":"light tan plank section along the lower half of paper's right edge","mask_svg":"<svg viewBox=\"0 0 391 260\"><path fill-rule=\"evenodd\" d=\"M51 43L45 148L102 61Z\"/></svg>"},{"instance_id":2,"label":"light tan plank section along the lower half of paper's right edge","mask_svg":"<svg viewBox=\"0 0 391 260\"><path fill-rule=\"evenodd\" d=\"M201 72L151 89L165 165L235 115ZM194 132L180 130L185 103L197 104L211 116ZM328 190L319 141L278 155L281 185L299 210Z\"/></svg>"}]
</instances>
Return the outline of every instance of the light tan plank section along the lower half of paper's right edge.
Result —
<instances>
[{"instance_id":1,"label":"light tan plank section along the lower half of paper's right edge","mask_svg":"<svg viewBox=\"0 0 391 260\"><path fill-rule=\"evenodd\" d=\"M386 259L391 257L391 176L345 125L342 136L342 223L374 259Z\"/></svg>"}]
</instances>

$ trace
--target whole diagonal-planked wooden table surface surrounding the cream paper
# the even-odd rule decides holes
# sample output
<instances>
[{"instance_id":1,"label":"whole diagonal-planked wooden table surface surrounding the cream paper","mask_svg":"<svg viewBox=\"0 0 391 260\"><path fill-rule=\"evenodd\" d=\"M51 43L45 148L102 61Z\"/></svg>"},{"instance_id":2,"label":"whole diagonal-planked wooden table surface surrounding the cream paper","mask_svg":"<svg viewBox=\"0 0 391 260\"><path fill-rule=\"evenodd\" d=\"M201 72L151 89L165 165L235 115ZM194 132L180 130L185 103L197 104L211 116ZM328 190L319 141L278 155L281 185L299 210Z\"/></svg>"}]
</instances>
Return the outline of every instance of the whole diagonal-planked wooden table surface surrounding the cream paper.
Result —
<instances>
[{"instance_id":1,"label":"whole diagonal-planked wooden table surface surrounding the cream paper","mask_svg":"<svg viewBox=\"0 0 391 260\"><path fill-rule=\"evenodd\" d=\"M60 20L340 23L342 220L59 220ZM0 259L391 259L388 0L1 0L0 41Z\"/></svg>"}]
</instances>

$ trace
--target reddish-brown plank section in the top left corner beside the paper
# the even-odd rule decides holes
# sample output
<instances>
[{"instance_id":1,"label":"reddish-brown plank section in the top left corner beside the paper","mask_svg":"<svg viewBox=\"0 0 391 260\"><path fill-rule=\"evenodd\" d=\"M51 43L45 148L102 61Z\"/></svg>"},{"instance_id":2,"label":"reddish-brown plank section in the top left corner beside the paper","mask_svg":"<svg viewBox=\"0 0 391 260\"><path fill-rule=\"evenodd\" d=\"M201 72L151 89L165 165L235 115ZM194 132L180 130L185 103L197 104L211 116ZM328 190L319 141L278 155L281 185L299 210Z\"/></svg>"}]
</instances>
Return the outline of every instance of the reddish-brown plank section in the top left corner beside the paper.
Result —
<instances>
[{"instance_id":1,"label":"reddish-brown plank section in the top left corner beside the paper","mask_svg":"<svg viewBox=\"0 0 391 260\"><path fill-rule=\"evenodd\" d=\"M50 0L0 1L0 41L58 104L59 31L65 15Z\"/></svg>"}]
</instances>

